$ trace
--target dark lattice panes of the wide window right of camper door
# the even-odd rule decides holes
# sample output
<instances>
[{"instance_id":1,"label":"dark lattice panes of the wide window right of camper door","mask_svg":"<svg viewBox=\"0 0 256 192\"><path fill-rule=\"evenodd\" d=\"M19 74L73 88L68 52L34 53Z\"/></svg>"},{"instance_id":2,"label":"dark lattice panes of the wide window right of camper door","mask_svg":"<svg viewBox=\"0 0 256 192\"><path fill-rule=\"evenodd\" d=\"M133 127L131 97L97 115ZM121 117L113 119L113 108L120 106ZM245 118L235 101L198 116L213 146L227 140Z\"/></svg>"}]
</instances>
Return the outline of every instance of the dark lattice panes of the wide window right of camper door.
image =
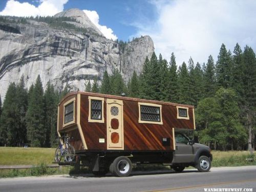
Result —
<instances>
[{"instance_id":1,"label":"dark lattice panes of the wide window right of camper door","mask_svg":"<svg viewBox=\"0 0 256 192\"><path fill-rule=\"evenodd\" d=\"M157 106L140 105L140 118L143 121L160 122L160 108Z\"/></svg>"}]
</instances>

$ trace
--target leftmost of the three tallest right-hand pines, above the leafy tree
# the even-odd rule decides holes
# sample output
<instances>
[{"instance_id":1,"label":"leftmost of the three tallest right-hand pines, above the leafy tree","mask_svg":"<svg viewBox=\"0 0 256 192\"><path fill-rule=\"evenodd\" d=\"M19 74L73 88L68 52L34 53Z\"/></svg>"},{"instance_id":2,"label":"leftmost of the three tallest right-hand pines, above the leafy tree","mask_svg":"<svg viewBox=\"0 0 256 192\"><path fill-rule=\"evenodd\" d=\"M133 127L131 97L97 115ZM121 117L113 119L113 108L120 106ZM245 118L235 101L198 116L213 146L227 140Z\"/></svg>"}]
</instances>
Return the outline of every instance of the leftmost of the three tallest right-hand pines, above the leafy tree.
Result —
<instances>
[{"instance_id":1,"label":"leftmost of the three tallest right-hand pines, above the leafy tree","mask_svg":"<svg viewBox=\"0 0 256 192\"><path fill-rule=\"evenodd\" d=\"M232 62L231 52L226 50L224 44L222 44L220 53L218 55L216 73L218 87L229 88L231 87L232 79Z\"/></svg>"}]
</instances>

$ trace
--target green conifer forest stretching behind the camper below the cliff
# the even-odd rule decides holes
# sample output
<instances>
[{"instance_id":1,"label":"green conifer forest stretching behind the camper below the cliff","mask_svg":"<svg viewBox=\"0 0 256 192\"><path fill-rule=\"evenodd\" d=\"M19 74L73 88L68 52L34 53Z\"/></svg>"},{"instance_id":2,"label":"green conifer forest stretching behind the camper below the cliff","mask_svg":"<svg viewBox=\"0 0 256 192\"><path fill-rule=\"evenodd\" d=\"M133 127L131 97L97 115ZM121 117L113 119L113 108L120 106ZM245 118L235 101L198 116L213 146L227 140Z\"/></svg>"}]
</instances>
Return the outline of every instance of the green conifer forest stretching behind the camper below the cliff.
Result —
<instances>
[{"instance_id":1,"label":"green conifer forest stretching behind the camper below the cliff","mask_svg":"<svg viewBox=\"0 0 256 192\"><path fill-rule=\"evenodd\" d=\"M80 91L194 105L193 136L213 150L255 147L256 58L248 46L242 50L237 44L230 51L222 44L216 61L210 55L200 64L190 57L179 67L174 53L169 61L153 53L127 83L117 69L104 72L101 83L98 77L87 82ZM56 146L57 106L69 92L68 86L56 91L51 82L43 90L39 75L29 89L24 77L10 83L0 99L0 146Z\"/></svg>"}]
</instances>

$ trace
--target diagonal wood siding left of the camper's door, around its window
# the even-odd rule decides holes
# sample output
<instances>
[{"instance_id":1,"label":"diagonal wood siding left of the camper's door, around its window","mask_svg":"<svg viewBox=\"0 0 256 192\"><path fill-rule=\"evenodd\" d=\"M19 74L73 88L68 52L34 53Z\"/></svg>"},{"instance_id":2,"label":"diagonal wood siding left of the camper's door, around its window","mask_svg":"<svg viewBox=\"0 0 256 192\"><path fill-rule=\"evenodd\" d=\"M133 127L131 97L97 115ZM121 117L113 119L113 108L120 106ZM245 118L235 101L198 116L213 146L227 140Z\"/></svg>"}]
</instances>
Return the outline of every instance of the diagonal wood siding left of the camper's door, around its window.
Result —
<instances>
[{"instance_id":1,"label":"diagonal wood siding left of the camper's door, around its window","mask_svg":"<svg viewBox=\"0 0 256 192\"><path fill-rule=\"evenodd\" d=\"M106 119L106 102L103 105L104 119ZM80 124L88 150L106 150L106 120L104 123L88 122L89 99L88 95L81 94ZM99 139L105 139L100 143Z\"/></svg>"}]
</instances>

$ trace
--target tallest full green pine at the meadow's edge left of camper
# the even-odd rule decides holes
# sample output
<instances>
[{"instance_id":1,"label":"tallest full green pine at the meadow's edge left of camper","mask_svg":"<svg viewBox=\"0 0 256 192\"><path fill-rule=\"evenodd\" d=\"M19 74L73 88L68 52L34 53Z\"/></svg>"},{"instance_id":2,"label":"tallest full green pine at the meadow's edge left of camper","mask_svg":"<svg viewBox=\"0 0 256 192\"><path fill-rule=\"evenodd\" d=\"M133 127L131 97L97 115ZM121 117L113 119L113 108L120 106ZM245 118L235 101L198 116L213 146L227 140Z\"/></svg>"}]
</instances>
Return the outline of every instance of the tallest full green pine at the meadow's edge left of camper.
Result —
<instances>
[{"instance_id":1,"label":"tallest full green pine at the meadow's edge left of camper","mask_svg":"<svg viewBox=\"0 0 256 192\"><path fill-rule=\"evenodd\" d=\"M45 143L45 112L44 112L44 91L38 75L34 88L31 89L26 113L27 138L31 146L44 146Z\"/></svg>"}]
</instances>

